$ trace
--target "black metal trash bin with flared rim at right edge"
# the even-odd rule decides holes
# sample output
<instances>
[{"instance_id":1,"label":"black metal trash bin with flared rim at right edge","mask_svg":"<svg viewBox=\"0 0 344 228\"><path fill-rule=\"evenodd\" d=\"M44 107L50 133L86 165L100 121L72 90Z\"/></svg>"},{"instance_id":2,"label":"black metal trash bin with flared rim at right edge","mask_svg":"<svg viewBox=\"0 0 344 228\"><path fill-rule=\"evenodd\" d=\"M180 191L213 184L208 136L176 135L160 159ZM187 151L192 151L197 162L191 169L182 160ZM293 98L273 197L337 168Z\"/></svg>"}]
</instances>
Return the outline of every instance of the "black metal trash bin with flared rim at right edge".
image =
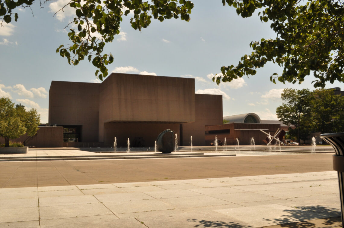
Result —
<instances>
[{"instance_id":1,"label":"black metal trash bin with flared rim at right edge","mask_svg":"<svg viewBox=\"0 0 344 228\"><path fill-rule=\"evenodd\" d=\"M333 169L338 172L339 196L341 200L342 227L344 228L344 132L321 134L320 138L328 142L335 150Z\"/></svg>"}]
</instances>

